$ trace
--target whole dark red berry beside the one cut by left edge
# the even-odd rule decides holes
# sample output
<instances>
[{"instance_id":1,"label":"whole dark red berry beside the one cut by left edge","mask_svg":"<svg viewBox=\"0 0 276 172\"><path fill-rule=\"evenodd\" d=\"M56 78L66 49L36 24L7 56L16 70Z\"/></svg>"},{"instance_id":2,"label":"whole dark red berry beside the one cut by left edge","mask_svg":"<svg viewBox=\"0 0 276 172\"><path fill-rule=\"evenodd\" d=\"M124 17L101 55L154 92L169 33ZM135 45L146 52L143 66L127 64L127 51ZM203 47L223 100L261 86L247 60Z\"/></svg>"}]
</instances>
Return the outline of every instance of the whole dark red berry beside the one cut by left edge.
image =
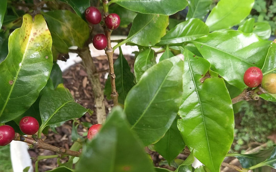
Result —
<instances>
[{"instance_id":1,"label":"whole dark red berry beside the one cut by left edge","mask_svg":"<svg viewBox=\"0 0 276 172\"><path fill-rule=\"evenodd\" d=\"M20 120L19 128L23 133L27 135L33 135L38 131L39 124L35 118L31 116L25 116Z\"/></svg>"}]
</instances>

